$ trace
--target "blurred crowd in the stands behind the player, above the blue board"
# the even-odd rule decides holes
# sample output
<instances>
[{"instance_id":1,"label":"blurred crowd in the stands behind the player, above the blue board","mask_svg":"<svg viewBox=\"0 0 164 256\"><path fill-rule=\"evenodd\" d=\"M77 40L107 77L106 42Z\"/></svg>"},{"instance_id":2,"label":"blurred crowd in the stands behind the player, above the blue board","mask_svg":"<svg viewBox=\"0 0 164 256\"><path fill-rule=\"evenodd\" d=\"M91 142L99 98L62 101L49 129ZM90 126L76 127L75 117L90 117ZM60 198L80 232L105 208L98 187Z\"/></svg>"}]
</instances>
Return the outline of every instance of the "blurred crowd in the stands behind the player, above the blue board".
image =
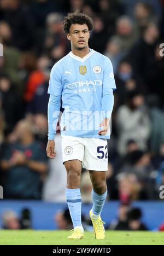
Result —
<instances>
[{"instance_id":1,"label":"blurred crowd in the stands behind the player, above the blue board","mask_svg":"<svg viewBox=\"0 0 164 256\"><path fill-rule=\"evenodd\" d=\"M69 11L93 19L89 46L113 63L117 90L108 141L108 200L160 200L164 185L164 1L1 0L0 185L5 199L65 201L60 133L46 157L52 66L71 50ZM89 173L81 194L91 202Z\"/></svg>"}]
</instances>

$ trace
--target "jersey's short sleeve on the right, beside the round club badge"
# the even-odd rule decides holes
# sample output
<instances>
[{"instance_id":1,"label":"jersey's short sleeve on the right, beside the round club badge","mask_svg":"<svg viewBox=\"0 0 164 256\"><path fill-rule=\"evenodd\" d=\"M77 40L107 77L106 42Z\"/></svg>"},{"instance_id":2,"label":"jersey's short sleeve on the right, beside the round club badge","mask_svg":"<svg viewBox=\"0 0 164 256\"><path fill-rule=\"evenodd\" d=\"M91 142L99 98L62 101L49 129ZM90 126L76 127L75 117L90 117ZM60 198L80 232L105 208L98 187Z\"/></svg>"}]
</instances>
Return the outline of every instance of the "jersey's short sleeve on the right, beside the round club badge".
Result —
<instances>
[{"instance_id":1,"label":"jersey's short sleeve on the right, beside the round club badge","mask_svg":"<svg viewBox=\"0 0 164 256\"><path fill-rule=\"evenodd\" d=\"M103 95L111 92L111 89L116 90L113 66L108 57L104 58L104 75L103 75Z\"/></svg>"}]
</instances>

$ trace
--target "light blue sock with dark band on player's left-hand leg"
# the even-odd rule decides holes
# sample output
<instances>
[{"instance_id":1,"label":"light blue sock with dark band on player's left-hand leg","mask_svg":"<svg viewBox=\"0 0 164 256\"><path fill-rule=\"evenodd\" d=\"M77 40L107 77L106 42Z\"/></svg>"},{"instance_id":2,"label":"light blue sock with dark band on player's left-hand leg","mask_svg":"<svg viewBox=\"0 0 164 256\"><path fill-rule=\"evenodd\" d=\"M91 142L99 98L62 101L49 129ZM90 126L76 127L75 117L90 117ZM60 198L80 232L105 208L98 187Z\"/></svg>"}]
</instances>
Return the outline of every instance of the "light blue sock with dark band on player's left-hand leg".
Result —
<instances>
[{"instance_id":1,"label":"light blue sock with dark band on player's left-hand leg","mask_svg":"<svg viewBox=\"0 0 164 256\"><path fill-rule=\"evenodd\" d=\"M75 226L82 226L81 224L81 193L80 189L66 188L66 199L71 215L73 228Z\"/></svg>"}]
</instances>

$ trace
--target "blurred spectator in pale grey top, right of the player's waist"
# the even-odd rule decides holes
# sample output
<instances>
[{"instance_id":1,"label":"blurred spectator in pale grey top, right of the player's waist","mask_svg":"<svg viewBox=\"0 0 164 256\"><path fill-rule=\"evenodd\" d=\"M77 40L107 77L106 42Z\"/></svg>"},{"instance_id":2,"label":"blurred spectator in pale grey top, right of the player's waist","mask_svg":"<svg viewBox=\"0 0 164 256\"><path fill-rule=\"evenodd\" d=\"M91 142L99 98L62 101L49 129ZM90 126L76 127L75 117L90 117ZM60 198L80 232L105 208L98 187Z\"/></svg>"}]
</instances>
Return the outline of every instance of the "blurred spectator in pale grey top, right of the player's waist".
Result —
<instances>
[{"instance_id":1,"label":"blurred spectator in pale grey top, right of the player's waist","mask_svg":"<svg viewBox=\"0 0 164 256\"><path fill-rule=\"evenodd\" d=\"M116 127L120 154L126 153L126 143L129 139L134 139L140 149L147 149L150 120L142 93L132 91L128 94L126 103L118 109Z\"/></svg>"}]
</instances>

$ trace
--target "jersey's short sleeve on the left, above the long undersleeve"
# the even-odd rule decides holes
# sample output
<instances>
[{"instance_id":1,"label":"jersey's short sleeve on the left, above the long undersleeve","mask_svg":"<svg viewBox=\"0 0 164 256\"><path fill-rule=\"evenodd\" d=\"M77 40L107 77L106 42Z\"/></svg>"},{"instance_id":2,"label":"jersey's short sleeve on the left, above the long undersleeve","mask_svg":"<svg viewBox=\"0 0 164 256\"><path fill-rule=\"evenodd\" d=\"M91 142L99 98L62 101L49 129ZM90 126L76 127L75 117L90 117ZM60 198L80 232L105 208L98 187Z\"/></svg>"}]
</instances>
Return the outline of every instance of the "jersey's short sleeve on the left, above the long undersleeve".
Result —
<instances>
[{"instance_id":1,"label":"jersey's short sleeve on the left, above the long undersleeve","mask_svg":"<svg viewBox=\"0 0 164 256\"><path fill-rule=\"evenodd\" d=\"M62 68L58 63L51 69L48 94L55 96L62 94Z\"/></svg>"}]
</instances>

